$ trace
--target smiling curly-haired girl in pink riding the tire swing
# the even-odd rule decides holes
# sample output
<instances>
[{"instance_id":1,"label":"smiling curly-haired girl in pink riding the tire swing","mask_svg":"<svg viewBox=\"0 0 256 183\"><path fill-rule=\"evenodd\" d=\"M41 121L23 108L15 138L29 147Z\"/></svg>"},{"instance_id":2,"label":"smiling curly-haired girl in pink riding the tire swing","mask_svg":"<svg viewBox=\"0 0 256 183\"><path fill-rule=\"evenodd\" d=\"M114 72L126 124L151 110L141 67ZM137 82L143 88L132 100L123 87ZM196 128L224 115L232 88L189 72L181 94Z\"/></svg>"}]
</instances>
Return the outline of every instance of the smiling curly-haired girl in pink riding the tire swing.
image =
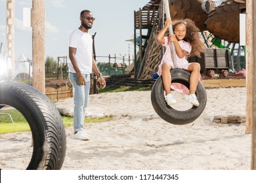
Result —
<instances>
[{"instance_id":1,"label":"smiling curly-haired girl in pink riding the tire swing","mask_svg":"<svg viewBox=\"0 0 256 183\"><path fill-rule=\"evenodd\" d=\"M165 32L168 30L169 25L173 25L174 35L165 37ZM163 87L165 89L165 101L168 105L173 105L177 101L171 94L171 73L170 70L175 68L173 59L171 57L171 42L175 45L176 50L176 64L178 68L186 69L191 72L190 75L190 93L185 99L192 103L192 105L199 106L198 99L195 95L196 88L198 86L198 79L200 78L200 64L188 63L186 56L198 56L201 52L204 52L204 44L200 41L198 32L200 30L194 22L190 19L171 21L169 18L165 21L165 26L158 33L158 42L165 46L165 54L161 60L161 64L158 69L158 75L162 75Z\"/></svg>"}]
</instances>

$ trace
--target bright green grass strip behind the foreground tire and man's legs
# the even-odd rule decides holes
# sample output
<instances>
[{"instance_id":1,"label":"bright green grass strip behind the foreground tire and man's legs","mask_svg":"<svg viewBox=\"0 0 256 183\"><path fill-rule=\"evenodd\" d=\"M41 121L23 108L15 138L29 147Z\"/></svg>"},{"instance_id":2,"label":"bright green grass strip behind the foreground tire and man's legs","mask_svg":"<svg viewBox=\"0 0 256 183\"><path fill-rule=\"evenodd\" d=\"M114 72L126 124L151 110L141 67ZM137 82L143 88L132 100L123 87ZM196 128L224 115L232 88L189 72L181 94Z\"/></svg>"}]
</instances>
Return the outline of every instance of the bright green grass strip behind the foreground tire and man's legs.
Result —
<instances>
[{"instance_id":1,"label":"bright green grass strip behind the foreground tire and man's legs","mask_svg":"<svg viewBox=\"0 0 256 183\"><path fill-rule=\"evenodd\" d=\"M10 117L7 115L0 115L0 134L30 131L30 125L28 125L26 119L18 110L0 110L0 112L11 114L12 120L14 121L14 123L12 123ZM113 118L114 116L112 115L95 118L85 118L85 123L108 122L113 120ZM73 120L73 117L62 116L62 121L65 127L73 125Z\"/></svg>"}]
</instances>

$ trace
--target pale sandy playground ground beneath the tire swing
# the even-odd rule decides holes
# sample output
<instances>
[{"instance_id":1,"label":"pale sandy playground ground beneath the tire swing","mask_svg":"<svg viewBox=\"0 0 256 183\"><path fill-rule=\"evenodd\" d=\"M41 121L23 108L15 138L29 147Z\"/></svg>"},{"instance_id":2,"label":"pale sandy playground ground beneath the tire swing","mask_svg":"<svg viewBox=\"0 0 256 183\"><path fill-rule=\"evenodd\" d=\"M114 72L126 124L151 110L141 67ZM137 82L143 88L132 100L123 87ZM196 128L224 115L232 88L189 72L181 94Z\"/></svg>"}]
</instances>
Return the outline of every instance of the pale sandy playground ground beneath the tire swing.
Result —
<instances>
[{"instance_id":1,"label":"pale sandy playground ground beneath the tire swing","mask_svg":"<svg viewBox=\"0 0 256 183\"><path fill-rule=\"evenodd\" d=\"M56 107L73 114L73 98L58 101ZM207 89L205 110L186 125L162 120L150 92L90 95L88 115L114 115L114 120L85 124L89 141L72 139L73 127L67 127L62 169L250 169L251 134L245 134L245 123L212 122L217 115L245 116L245 110L246 88ZM0 167L24 169L30 145L30 133L0 135Z\"/></svg>"}]
</instances>

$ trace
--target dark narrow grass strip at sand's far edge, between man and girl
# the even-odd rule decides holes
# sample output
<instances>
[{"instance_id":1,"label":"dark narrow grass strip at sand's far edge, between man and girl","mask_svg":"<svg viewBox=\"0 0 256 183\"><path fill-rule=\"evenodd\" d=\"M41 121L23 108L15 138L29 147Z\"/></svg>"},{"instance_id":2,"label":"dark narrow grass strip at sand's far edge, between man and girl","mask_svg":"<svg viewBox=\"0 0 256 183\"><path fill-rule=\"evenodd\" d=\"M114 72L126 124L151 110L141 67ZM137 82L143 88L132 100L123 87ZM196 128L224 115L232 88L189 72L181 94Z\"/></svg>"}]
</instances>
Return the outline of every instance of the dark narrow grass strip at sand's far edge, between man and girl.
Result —
<instances>
[{"instance_id":1,"label":"dark narrow grass strip at sand's far edge, between man and girl","mask_svg":"<svg viewBox=\"0 0 256 183\"><path fill-rule=\"evenodd\" d=\"M110 92L132 92L132 91L151 91L151 87L142 86L120 86L120 87L106 87L104 89L98 89L99 93L110 93Z\"/></svg>"}]
</instances>

